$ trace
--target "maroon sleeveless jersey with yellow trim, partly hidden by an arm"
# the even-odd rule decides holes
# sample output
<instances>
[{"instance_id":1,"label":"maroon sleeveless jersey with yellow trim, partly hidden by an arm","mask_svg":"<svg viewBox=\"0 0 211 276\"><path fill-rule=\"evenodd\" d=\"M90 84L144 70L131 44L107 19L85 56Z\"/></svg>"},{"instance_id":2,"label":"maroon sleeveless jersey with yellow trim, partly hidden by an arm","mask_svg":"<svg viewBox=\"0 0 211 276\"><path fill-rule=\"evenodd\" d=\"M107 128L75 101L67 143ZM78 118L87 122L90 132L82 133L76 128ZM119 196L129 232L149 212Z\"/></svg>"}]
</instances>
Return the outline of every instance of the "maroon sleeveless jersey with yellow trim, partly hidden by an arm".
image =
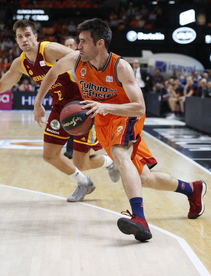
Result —
<instances>
[{"instance_id":1,"label":"maroon sleeveless jersey with yellow trim, partly hidden by an arm","mask_svg":"<svg viewBox=\"0 0 211 276\"><path fill-rule=\"evenodd\" d=\"M39 85L50 68L53 66L53 63L46 62L44 57L44 48L48 43L51 42L39 42L37 57L34 63L27 59L24 52L21 54L21 65L25 71L25 74ZM64 106L68 102L82 100L73 70L69 70L64 74L59 75L55 83L51 86L49 93L51 94L53 105L59 104Z\"/></svg>"}]
</instances>

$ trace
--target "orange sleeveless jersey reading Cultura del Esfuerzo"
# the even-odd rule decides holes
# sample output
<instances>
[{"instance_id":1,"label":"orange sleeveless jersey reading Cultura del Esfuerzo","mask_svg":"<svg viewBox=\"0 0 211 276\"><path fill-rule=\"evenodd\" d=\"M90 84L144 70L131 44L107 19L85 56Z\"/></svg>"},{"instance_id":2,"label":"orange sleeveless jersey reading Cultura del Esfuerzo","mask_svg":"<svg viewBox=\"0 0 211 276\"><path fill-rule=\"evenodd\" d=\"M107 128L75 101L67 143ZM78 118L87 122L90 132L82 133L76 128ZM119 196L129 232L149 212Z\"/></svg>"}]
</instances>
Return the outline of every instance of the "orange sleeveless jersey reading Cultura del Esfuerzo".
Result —
<instances>
[{"instance_id":1,"label":"orange sleeveless jersey reading Cultura del Esfuerzo","mask_svg":"<svg viewBox=\"0 0 211 276\"><path fill-rule=\"evenodd\" d=\"M107 102L112 104L129 103L121 82L117 79L116 65L121 57L109 53L107 63L102 71L96 71L92 64L83 62L80 56L75 66L75 75L82 97L85 100ZM112 119L119 116L112 114L97 114L95 125L109 124Z\"/></svg>"}]
</instances>

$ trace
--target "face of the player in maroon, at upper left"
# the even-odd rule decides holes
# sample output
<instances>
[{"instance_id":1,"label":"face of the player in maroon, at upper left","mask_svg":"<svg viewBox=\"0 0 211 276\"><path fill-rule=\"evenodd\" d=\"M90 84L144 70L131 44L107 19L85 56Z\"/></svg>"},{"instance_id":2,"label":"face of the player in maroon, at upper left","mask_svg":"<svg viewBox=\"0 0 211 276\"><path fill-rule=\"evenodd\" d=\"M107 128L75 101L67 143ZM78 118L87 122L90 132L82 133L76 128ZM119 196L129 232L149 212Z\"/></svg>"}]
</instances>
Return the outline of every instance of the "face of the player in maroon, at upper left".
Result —
<instances>
[{"instance_id":1,"label":"face of the player in maroon, at upper left","mask_svg":"<svg viewBox=\"0 0 211 276\"><path fill-rule=\"evenodd\" d=\"M29 52L36 46L37 34L33 34L31 27L18 28L15 40L22 51Z\"/></svg>"}]
</instances>

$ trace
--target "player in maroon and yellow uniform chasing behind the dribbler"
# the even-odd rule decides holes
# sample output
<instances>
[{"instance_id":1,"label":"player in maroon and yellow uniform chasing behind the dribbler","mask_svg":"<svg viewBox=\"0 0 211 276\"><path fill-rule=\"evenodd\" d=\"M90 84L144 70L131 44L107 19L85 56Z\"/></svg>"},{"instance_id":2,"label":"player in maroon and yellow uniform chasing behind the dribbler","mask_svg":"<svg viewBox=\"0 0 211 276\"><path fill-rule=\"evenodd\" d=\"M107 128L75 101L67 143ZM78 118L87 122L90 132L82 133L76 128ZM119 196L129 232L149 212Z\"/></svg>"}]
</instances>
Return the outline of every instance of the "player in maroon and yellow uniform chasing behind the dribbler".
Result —
<instances>
[{"instance_id":1,"label":"player in maroon and yellow uniform chasing behind the dribbler","mask_svg":"<svg viewBox=\"0 0 211 276\"><path fill-rule=\"evenodd\" d=\"M74 52L74 50L58 43L37 42L37 33L31 21L18 20L13 29L16 33L16 42L23 52L20 57L13 61L10 70L0 80L1 92L18 82L23 74L41 84L45 74L57 60L70 52ZM60 75L49 87L49 93L52 97L53 107L48 122L45 122L47 125L44 131L43 159L77 182L75 192L68 197L67 201L81 201L86 194L90 194L95 189L92 180L84 176L81 171L105 166L114 182L119 180L120 174L109 156L90 155L91 148L95 151L102 148L96 138L94 127L87 134L74 137L74 165L61 154L61 149L67 142L69 134L61 127L60 112L67 103L82 100L74 72L68 69L67 72ZM37 119L37 110L43 117L45 116L45 109L39 104L38 97L34 102L34 113L35 121L41 126Z\"/></svg>"}]
</instances>

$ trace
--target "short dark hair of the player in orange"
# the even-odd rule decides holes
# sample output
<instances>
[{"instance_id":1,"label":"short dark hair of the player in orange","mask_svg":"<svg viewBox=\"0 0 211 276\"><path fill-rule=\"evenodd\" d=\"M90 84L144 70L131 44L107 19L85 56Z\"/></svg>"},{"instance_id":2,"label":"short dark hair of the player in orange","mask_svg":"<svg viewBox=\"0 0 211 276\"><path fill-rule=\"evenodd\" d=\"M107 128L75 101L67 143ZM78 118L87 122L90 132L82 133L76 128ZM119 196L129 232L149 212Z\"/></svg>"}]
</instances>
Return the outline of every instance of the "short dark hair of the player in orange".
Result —
<instances>
[{"instance_id":1,"label":"short dark hair of the player in orange","mask_svg":"<svg viewBox=\"0 0 211 276\"><path fill-rule=\"evenodd\" d=\"M109 44L111 43L111 29L108 26L107 22L103 21L100 18L85 20L78 25L78 31L79 33L89 31L94 45L96 45L97 41L100 39L104 40L106 48L108 48Z\"/></svg>"}]
</instances>

